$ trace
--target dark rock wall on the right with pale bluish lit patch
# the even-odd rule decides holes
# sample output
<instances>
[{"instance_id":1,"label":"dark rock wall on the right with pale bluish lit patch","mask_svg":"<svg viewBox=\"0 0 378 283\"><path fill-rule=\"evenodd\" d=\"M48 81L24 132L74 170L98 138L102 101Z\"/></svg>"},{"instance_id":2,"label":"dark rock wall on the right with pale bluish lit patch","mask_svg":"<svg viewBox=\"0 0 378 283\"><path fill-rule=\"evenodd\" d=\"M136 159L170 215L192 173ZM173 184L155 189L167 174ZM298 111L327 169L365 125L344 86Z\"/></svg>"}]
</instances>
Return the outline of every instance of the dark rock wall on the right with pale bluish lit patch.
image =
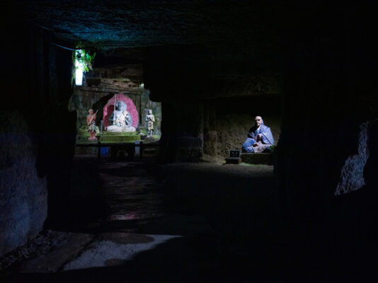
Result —
<instances>
[{"instance_id":1,"label":"dark rock wall on the right with pale bluish lit patch","mask_svg":"<svg viewBox=\"0 0 378 283\"><path fill-rule=\"evenodd\" d=\"M367 28L376 10L371 1L337 7L297 2L285 27L275 171L277 203L293 247L288 254L348 279L377 276L371 260L378 236L377 44ZM316 248L303 249L306 243Z\"/></svg>"}]
</instances>

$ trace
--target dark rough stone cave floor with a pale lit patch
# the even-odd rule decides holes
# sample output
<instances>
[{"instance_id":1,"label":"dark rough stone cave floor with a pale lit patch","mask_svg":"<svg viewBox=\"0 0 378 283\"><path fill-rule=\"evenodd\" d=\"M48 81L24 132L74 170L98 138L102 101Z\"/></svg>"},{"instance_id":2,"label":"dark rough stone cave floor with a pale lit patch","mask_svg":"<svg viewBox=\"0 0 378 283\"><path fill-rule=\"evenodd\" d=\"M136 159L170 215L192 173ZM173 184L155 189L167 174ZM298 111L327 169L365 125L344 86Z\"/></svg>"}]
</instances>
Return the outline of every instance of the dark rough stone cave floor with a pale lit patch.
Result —
<instances>
[{"instance_id":1,"label":"dark rough stone cave floor with a pale lit patch","mask_svg":"<svg viewBox=\"0 0 378 283\"><path fill-rule=\"evenodd\" d=\"M11 265L6 279L248 282L275 265L273 166L81 157L73 175L58 243Z\"/></svg>"}]
</instances>

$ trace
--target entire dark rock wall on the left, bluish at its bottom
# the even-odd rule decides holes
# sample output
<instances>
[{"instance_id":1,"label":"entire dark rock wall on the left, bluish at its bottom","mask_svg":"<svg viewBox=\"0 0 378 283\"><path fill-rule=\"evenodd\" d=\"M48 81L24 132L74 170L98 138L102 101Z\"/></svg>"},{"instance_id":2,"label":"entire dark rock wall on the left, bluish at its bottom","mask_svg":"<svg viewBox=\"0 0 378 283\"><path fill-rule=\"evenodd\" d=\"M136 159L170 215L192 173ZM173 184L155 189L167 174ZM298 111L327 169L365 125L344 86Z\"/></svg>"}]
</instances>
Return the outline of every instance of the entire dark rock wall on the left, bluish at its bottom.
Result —
<instances>
[{"instance_id":1,"label":"entire dark rock wall on the left, bluish at its bottom","mask_svg":"<svg viewBox=\"0 0 378 283\"><path fill-rule=\"evenodd\" d=\"M2 28L12 47L0 52L6 70L0 103L0 254L64 218L76 118L67 110L71 51L52 45L49 31L17 17L9 16Z\"/></svg>"}]
</instances>

